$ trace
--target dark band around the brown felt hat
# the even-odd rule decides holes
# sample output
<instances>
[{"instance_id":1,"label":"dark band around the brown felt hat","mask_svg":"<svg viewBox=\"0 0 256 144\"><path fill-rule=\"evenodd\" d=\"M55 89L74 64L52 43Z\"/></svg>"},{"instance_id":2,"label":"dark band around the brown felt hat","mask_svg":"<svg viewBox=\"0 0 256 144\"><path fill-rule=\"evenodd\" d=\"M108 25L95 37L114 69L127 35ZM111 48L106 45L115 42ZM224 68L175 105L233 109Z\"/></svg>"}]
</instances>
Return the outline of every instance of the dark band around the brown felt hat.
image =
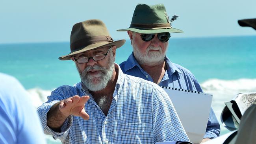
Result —
<instances>
[{"instance_id":1,"label":"dark band around the brown felt hat","mask_svg":"<svg viewBox=\"0 0 256 144\"><path fill-rule=\"evenodd\" d=\"M102 36L94 36L94 37L87 37L84 39L80 39L79 41L73 42L70 44L71 53L80 50L82 47L89 46L91 44L95 44L98 42L113 42L113 39L109 36L102 35Z\"/></svg>"}]
</instances>

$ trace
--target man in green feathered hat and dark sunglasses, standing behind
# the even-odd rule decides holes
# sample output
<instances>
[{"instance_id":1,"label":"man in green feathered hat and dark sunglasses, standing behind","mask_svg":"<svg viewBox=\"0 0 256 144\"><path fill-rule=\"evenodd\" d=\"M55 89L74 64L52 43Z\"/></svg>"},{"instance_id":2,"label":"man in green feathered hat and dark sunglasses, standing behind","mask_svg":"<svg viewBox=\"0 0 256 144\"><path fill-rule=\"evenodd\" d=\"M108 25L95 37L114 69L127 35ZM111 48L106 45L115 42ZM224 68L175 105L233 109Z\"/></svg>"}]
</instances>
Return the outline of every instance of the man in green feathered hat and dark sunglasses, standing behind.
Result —
<instances>
[{"instance_id":1,"label":"man in green feathered hat and dark sunglasses, standing behind","mask_svg":"<svg viewBox=\"0 0 256 144\"><path fill-rule=\"evenodd\" d=\"M172 63L166 56L170 33L183 32L171 26L177 17L174 15L170 20L163 4L138 4L130 27L117 30L127 31L133 47L132 54L120 67L125 74L160 86L202 92L195 76L186 68ZM219 122L211 109L203 141L218 137L219 133Z\"/></svg>"}]
</instances>

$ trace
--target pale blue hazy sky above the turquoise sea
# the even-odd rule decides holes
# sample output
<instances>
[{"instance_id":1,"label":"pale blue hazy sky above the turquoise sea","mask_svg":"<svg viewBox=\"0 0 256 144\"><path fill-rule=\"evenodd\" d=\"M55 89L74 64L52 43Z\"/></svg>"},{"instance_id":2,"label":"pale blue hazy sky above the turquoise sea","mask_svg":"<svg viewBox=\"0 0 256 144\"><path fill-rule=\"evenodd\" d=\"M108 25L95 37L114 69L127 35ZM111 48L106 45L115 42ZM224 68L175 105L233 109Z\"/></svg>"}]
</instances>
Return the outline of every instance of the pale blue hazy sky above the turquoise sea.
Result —
<instances>
[{"instance_id":1,"label":"pale blue hazy sky above the turquoise sea","mask_svg":"<svg viewBox=\"0 0 256 144\"><path fill-rule=\"evenodd\" d=\"M72 26L98 18L114 40L128 39L126 32L138 3L163 3L173 27L184 31L172 37L256 35L240 27L238 19L256 18L256 0L1 0L0 44L69 41Z\"/></svg>"}]
</instances>

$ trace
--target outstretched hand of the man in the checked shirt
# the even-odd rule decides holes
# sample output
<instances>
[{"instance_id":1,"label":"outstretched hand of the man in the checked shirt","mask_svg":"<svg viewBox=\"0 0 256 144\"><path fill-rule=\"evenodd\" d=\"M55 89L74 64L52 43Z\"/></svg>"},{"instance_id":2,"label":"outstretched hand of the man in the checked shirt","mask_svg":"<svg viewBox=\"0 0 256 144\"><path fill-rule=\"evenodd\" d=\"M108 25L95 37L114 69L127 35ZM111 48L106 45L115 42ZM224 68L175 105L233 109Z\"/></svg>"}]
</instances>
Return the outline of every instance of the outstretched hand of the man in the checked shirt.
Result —
<instances>
[{"instance_id":1,"label":"outstretched hand of the man in the checked shirt","mask_svg":"<svg viewBox=\"0 0 256 144\"><path fill-rule=\"evenodd\" d=\"M84 105L89 100L89 96L73 96L59 103L59 111L65 116L80 116L84 120L89 119L89 115L85 112Z\"/></svg>"}]
</instances>

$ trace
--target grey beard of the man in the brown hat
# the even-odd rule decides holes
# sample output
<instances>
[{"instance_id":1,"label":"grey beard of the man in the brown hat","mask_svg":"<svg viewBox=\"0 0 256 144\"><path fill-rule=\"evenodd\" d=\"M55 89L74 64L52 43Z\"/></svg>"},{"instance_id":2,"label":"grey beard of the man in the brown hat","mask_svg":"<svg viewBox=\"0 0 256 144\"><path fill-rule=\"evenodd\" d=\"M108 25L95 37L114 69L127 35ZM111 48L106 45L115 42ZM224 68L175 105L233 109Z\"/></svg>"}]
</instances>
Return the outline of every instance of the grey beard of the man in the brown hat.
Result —
<instances>
[{"instance_id":1,"label":"grey beard of the man in the brown hat","mask_svg":"<svg viewBox=\"0 0 256 144\"><path fill-rule=\"evenodd\" d=\"M94 65L94 66L87 66L85 70L81 72L78 69L78 66L76 66L78 69L81 81L85 85L85 87L91 91L99 91L99 90L105 89L113 75L113 71L115 67L114 61L115 61L114 57L110 57L109 65L108 65L109 69L98 66L98 65ZM90 76L87 72L93 69L99 70L98 71L99 74L96 76Z\"/></svg>"}]
</instances>

